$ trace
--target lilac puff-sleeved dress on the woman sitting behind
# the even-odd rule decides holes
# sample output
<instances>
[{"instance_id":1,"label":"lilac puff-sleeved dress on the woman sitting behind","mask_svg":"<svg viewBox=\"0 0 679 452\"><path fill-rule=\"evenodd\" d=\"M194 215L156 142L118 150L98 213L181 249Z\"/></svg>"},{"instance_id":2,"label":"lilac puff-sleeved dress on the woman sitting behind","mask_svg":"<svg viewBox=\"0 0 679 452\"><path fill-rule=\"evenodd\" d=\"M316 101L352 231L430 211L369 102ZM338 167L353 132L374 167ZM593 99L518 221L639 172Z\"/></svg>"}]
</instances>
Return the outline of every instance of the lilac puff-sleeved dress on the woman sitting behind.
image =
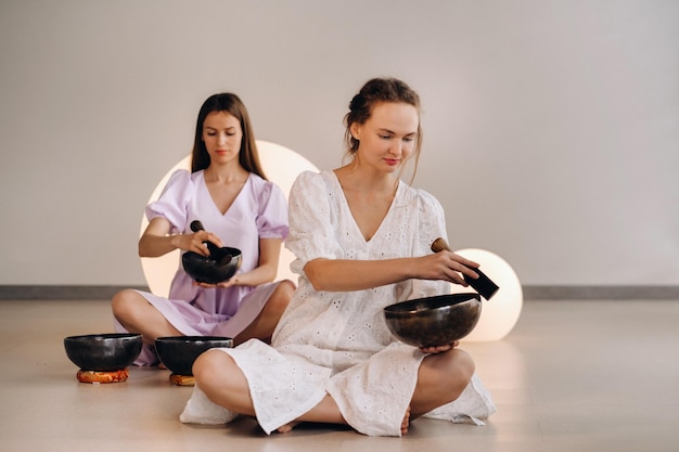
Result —
<instances>
[{"instance_id":1,"label":"lilac puff-sleeved dress on the woman sitting behind","mask_svg":"<svg viewBox=\"0 0 679 452\"><path fill-rule=\"evenodd\" d=\"M146 217L149 221L166 218L171 224L171 234L192 233L191 222L200 220L205 230L217 234L226 246L242 251L239 273L257 267L260 238L285 240L289 233L287 203L282 190L254 173L222 215L207 190L203 171L178 170L171 175L158 199L149 204ZM277 285L203 288L194 285L179 264L168 298L139 293L183 335L233 337L255 320ZM117 321L115 326L118 332L126 331ZM144 346L136 364L156 363L153 348Z\"/></svg>"}]
</instances>

